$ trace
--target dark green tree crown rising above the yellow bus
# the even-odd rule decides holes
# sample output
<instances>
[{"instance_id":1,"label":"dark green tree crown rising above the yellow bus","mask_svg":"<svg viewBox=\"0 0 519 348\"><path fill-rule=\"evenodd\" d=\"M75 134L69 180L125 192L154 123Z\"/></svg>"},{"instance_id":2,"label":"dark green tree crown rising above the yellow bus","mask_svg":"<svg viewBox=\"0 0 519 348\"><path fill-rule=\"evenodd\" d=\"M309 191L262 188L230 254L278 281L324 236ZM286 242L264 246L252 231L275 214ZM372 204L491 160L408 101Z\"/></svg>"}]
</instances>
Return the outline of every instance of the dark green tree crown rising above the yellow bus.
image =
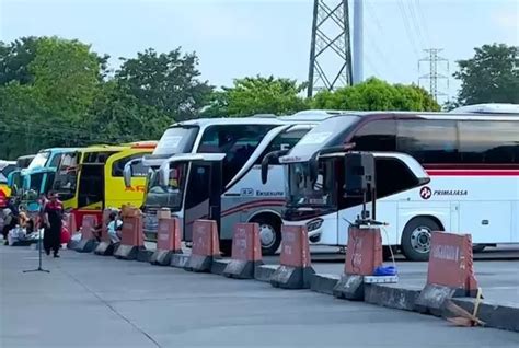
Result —
<instances>
[{"instance_id":1,"label":"dark green tree crown rising above the yellow bus","mask_svg":"<svg viewBox=\"0 0 519 348\"><path fill-rule=\"evenodd\" d=\"M157 54L152 48L138 53L137 58L123 59L115 73L118 83L139 103L184 120L198 116L208 103L212 86L198 80L195 54L182 55L181 48Z\"/></svg>"}]
</instances>

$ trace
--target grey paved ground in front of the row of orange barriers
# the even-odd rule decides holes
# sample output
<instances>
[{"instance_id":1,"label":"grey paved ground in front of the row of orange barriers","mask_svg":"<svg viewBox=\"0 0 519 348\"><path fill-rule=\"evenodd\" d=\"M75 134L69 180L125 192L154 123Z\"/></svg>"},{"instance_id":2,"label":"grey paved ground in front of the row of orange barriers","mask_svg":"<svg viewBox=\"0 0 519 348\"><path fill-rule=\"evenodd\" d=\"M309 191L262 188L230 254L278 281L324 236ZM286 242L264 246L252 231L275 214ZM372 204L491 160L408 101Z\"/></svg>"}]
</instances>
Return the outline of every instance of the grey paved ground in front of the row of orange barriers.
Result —
<instances>
[{"instance_id":1,"label":"grey paved ground in front of the row of orange barriers","mask_svg":"<svg viewBox=\"0 0 519 348\"><path fill-rule=\"evenodd\" d=\"M0 247L0 347L518 347L519 334L308 290Z\"/></svg>"}]
</instances>

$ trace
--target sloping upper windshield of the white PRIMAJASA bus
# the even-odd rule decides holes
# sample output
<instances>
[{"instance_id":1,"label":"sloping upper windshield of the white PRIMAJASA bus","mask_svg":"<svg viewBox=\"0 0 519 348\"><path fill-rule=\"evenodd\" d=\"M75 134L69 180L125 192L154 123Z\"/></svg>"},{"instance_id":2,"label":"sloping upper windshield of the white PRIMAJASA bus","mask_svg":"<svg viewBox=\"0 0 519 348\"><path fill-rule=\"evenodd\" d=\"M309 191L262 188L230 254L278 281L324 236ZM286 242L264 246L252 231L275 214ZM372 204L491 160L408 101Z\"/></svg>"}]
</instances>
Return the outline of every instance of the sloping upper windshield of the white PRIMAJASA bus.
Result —
<instances>
[{"instance_id":1,"label":"sloping upper windshield of the white PRIMAJASA bus","mask_svg":"<svg viewBox=\"0 0 519 348\"><path fill-rule=\"evenodd\" d=\"M339 146L343 137L338 135L350 128L360 119L356 115L331 117L323 120L319 126L310 130L293 147L288 154L289 158L297 158L298 161L308 161L315 152L325 147ZM335 143L337 140L338 143Z\"/></svg>"}]
</instances>

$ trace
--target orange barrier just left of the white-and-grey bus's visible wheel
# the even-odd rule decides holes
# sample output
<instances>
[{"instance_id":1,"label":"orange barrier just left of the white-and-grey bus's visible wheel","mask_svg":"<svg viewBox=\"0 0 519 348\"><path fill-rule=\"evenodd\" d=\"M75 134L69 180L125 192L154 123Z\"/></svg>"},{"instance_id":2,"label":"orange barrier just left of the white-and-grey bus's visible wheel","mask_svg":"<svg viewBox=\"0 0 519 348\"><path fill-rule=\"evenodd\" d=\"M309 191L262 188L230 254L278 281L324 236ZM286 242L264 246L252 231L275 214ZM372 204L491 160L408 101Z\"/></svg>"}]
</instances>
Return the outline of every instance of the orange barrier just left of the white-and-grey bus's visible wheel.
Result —
<instances>
[{"instance_id":1,"label":"orange barrier just left of the white-and-grey bus's visible wheel","mask_svg":"<svg viewBox=\"0 0 519 348\"><path fill-rule=\"evenodd\" d=\"M260 225L237 223L232 235L232 259L222 275L238 279L253 279L256 267L263 265Z\"/></svg>"}]
</instances>

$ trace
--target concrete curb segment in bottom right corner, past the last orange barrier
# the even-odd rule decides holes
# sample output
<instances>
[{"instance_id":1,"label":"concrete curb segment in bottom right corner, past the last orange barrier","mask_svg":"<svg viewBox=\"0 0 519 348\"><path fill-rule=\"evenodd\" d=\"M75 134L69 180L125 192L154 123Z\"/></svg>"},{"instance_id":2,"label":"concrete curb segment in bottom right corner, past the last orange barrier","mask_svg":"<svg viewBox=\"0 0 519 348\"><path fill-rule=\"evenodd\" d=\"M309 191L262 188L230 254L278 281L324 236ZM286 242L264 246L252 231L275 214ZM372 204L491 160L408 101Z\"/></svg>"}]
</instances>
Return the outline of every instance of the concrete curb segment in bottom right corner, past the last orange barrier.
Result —
<instances>
[{"instance_id":1,"label":"concrete curb segment in bottom right corner, past the last orange barrier","mask_svg":"<svg viewBox=\"0 0 519 348\"><path fill-rule=\"evenodd\" d=\"M472 298L452 299L454 304L472 313L475 300ZM511 304L482 302L476 316L486 323L486 327L507 329L519 333L519 308Z\"/></svg>"}]
</instances>

